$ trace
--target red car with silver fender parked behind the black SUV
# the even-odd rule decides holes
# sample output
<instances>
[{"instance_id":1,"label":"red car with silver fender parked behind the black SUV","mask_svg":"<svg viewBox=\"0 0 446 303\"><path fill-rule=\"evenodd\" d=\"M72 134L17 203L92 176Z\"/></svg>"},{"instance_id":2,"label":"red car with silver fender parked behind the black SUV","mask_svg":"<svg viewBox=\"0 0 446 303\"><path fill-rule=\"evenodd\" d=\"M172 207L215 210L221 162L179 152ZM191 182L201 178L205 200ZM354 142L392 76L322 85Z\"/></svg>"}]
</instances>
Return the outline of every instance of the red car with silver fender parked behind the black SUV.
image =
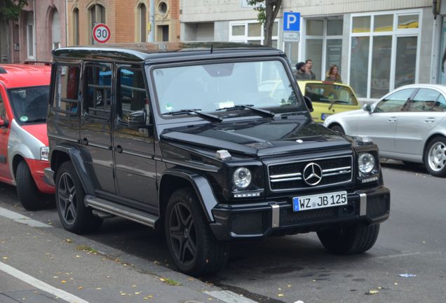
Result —
<instances>
[{"instance_id":1,"label":"red car with silver fender parked behind the black SUV","mask_svg":"<svg viewBox=\"0 0 446 303\"><path fill-rule=\"evenodd\" d=\"M0 181L17 187L27 210L41 208L42 194L54 193L43 181L50 72L48 65L0 65Z\"/></svg>"}]
</instances>

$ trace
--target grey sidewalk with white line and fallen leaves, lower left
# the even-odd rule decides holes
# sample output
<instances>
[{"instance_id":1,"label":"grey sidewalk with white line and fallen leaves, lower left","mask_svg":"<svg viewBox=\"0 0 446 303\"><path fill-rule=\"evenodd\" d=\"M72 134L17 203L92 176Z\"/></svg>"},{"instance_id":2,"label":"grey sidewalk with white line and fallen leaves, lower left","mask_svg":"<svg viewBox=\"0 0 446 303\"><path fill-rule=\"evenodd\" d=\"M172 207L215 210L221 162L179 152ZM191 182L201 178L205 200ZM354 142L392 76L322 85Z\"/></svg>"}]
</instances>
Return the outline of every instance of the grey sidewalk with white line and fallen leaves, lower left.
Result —
<instances>
[{"instance_id":1,"label":"grey sidewalk with white line and fallen leaves, lower left","mask_svg":"<svg viewBox=\"0 0 446 303\"><path fill-rule=\"evenodd\" d=\"M65 230L19 223L24 221L0 215L1 303L253 302ZM48 288L30 285L27 275ZM61 299L63 292L71 299Z\"/></svg>"}]
</instances>

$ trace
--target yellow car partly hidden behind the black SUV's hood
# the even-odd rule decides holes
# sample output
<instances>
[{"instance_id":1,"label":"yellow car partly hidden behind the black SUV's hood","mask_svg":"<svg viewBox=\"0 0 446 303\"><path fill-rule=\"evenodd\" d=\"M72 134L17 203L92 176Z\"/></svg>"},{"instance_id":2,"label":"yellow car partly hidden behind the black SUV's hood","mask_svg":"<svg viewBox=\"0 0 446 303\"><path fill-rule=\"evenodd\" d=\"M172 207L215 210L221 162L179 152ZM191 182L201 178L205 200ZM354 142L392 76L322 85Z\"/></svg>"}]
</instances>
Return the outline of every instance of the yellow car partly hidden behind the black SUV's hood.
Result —
<instances>
[{"instance_id":1,"label":"yellow car partly hidden behind the black SUV's hood","mask_svg":"<svg viewBox=\"0 0 446 303\"><path fill-rule=\"evenodd\" d=\"M297 81L300 90L313 102L311 116L323 122L331 114L360 109L358 98L350 86L328 81Z\"/></svg>"}]
</instances>

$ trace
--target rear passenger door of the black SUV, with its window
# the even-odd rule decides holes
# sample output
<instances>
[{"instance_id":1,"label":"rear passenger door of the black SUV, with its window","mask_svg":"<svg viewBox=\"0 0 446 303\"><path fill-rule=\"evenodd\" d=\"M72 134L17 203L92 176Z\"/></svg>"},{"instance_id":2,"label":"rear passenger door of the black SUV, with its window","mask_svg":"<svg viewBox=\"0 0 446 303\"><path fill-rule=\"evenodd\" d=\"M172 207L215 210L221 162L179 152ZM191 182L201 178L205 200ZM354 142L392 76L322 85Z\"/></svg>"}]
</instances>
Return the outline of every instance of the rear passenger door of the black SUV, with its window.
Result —
<instances>
[{"instance_id":1,"label":"rear passenger door of the black SUV, with its window","mask_svg":"<svg viewBox=\"0 0 446 303\"><path fill-rule=\"evenodd\" d=\"M112 152L112 65L86 63L83 69L80 143L95 174L98 191L115 194Z\"/></svg>"}]
</instances>

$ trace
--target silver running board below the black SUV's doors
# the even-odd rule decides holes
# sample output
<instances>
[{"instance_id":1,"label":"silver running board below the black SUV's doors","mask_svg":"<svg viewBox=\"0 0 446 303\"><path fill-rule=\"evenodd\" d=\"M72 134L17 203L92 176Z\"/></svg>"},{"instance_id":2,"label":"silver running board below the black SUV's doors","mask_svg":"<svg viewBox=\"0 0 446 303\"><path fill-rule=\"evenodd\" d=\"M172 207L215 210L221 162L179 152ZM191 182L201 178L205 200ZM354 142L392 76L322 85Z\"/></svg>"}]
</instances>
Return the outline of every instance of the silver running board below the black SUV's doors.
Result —
<instances>
[{"instance_id":1,"label":"silver running board below the black SUV's doors","mask_svg":"<svg viewBox=\"0 0 446 303\"><path fill-rule=\"evenodd\" d=\"M158 217L95 196L85 196L86 206L155 228Z\"/></svg>"}]
</instances>

